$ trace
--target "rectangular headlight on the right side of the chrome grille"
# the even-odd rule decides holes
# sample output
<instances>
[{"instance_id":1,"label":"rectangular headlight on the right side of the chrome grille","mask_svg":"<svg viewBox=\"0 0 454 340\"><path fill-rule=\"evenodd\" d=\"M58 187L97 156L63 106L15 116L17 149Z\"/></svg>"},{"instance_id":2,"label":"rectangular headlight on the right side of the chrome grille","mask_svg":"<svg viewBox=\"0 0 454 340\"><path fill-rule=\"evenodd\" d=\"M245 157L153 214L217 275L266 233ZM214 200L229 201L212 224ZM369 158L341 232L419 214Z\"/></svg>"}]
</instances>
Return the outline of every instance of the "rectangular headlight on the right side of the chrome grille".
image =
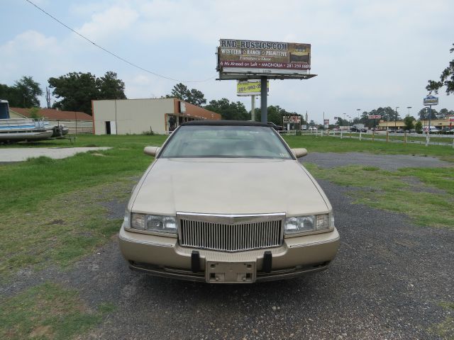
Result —
<instances>
[{"instance_id":1,"label":"rectangular headlight on the right side of the chrome grille","mask_svg":"<svg viewBox=\"0 0 454 340\"><path fill-rule=\"evenodd\" d=\"M308 215L287 217L284 234L299 234L301 232L319 232L334 227L333 214Z\"/></svg>"}]
</instances>

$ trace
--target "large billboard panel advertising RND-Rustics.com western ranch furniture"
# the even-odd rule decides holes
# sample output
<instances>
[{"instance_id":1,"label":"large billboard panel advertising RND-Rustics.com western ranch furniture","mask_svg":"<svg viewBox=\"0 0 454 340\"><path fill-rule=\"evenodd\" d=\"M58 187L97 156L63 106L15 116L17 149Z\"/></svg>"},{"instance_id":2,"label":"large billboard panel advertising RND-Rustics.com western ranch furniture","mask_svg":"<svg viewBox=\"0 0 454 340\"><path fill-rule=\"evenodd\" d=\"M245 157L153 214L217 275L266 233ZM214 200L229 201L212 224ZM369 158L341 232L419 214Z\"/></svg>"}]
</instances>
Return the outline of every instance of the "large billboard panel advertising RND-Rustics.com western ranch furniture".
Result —
<instances>
[{"instance_id":1,"label":"large billboard panel advertising RND-Rustics.com western ranch furniture","mask_svg":"<svg viewBox=\"0 0 454 340\"><path fill-rule=\"evenodd\" d=\"M311 45L297 42L221 39L221 74L309 74Z\"/></svg>"}]
</instances>

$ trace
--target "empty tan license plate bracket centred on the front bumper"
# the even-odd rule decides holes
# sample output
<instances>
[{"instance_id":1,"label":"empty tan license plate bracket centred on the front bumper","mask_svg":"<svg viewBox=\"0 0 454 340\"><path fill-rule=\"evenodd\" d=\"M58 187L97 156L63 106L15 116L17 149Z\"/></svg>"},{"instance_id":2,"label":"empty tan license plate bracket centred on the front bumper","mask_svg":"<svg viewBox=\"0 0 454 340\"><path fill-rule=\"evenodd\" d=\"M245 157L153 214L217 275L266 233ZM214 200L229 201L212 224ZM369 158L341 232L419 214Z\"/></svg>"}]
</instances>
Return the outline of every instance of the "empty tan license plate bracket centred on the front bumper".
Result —
<instances>
[{"instance_id":1,"label":"empty tan license plate bracket centred on the front bumper","mask_svg":"<svg viewBox=\"0 0 454 340\"><path fill-rule=\"evenodd\" d=\"M253 283L255 261L206 261L205 279L208 283Z\"/></svg>"}]
</instances>

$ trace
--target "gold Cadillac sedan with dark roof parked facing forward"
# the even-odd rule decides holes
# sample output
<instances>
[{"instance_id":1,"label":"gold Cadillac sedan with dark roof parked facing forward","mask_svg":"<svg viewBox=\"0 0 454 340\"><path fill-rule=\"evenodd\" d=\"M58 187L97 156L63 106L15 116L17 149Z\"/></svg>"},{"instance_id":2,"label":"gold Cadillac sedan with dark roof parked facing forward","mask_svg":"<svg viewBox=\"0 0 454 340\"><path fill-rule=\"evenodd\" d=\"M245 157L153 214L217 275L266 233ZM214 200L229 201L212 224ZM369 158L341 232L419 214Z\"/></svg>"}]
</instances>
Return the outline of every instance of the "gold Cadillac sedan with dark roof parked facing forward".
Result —
<instances>
[{"instance_id":1,"label":"gold Cadillac sedan with dark roof parked facing forward","mask_svg":"<svg viewBox=\"0 0 454 340\"><path fill-rule=\"evenodd\" d=\"M179 126L126 208L120 249L130 268L207 283L254 283L322 271L339 234L333 208L267 124Z\"/></svg>"}]
</instances>

